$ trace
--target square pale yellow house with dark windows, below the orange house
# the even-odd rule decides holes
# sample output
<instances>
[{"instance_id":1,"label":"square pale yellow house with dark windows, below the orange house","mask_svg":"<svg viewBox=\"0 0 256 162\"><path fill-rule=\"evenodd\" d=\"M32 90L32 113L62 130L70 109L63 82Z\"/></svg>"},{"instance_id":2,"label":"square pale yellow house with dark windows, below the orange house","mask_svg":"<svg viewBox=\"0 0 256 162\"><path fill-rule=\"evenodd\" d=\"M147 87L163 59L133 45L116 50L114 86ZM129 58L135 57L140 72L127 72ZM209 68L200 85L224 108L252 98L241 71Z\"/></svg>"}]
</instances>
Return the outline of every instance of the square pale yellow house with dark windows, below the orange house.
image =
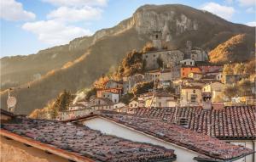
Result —
<instances>
[{"instance_id":1,"label":"square pale yellow house with dark windows, below the orange house","mask_svg":"<svg viewBox=\"0 0 256 162\"><path fill-rule=\"evenodd\" d=\"M181 106L198 106L202 102L200 86L182 86L180 92Z\"/></svg>"}]
</instances>

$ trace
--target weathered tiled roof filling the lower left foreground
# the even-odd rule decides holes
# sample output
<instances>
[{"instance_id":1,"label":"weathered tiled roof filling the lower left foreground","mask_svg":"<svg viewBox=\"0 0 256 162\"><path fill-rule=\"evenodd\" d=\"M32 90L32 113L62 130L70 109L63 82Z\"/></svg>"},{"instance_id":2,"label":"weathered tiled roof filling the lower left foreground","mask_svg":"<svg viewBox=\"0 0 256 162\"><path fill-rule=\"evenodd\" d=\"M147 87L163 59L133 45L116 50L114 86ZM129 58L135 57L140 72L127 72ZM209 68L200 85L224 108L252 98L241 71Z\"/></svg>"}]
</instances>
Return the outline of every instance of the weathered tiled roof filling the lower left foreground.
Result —
<instances>
[{"instance_id":1,"label":"weathered tiled roof filling the lower left foreground","mask_svg":"<svg viewBox=\"0 0 256 162\"><path fill-rule=\"evenodd\" d=\"M173 150L103 135L85 126L50 120L15 119L2 128L22 137L61 148L96 161L162 161L173 159Z\"/></svg>"}]
</instances>

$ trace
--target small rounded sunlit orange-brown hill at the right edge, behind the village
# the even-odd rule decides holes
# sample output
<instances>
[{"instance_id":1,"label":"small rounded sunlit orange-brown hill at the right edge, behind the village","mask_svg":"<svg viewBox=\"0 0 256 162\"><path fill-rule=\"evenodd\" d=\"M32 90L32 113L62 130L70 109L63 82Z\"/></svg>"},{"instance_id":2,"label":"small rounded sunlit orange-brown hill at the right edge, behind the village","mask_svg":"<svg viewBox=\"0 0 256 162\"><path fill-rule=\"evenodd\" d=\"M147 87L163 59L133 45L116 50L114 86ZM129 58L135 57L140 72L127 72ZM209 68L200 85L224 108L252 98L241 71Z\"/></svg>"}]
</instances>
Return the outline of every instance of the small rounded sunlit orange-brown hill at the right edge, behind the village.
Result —
<instances>
[{"instance_id":1,"label":"small rounded sunlit orange-brown hill at the right edge, behind the village","mask_svg":"<svg viewBox=\"0 0 256 162\"><path fill-rule=\"evenodd\" d=\"M255 37L247 34L232 36L228 41L215 47L210 53L212 63L236 63L254 58Z\"/></svg>"}]
</instances>

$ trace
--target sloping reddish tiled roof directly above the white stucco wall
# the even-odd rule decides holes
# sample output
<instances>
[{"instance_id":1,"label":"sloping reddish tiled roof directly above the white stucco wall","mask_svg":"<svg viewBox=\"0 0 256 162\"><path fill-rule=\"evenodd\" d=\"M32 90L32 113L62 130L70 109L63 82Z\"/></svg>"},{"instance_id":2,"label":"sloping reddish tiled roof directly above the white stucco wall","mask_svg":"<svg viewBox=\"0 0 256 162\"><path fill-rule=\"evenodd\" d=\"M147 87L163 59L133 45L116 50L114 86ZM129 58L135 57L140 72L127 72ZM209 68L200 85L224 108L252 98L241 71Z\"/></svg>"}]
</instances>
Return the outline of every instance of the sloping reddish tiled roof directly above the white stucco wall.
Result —
<instances>
[{"instance_id":1,"label":"sloping reddish tiled roof directly above the white stucco wall","mask_svg":"<svg viewBox=\"0 0 256 162\"><path fill-rule=\"evenodd\" d=\"M143 131L151 136L172 142L201 154L206 159L229 160L252 154L253 150L209 137L164 120L142 118L132 115L103 114L109 120ZM215 161L215 160L213 160Z\"/></svg>"}]
</instances>

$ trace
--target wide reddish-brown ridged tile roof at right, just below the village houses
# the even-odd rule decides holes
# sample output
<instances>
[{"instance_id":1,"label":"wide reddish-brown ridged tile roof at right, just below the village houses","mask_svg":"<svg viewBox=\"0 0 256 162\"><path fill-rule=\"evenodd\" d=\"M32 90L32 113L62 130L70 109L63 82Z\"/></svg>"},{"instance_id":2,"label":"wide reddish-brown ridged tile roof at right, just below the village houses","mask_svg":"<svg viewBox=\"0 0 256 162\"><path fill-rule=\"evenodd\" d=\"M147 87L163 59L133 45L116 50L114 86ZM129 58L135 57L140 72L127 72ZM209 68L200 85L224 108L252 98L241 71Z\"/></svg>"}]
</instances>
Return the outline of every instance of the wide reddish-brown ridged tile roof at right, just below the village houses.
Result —
<instances>
[{"instance_id":1,"label":"wide reddish-brown ridged tile roof at right, just below the village houses","mask_svg":"<svg viewBox=\"0 0 256 162\"><path fill-rule=\"evenodd\" d=\"M256 107L240 106L224 109L179 108L177 118L188 118L189 129L224 139L256 138ZM136 109L136 115L174 122L175 108ZM208 126L210 132L208 132Z\"/></svg>"}]
</instances>

